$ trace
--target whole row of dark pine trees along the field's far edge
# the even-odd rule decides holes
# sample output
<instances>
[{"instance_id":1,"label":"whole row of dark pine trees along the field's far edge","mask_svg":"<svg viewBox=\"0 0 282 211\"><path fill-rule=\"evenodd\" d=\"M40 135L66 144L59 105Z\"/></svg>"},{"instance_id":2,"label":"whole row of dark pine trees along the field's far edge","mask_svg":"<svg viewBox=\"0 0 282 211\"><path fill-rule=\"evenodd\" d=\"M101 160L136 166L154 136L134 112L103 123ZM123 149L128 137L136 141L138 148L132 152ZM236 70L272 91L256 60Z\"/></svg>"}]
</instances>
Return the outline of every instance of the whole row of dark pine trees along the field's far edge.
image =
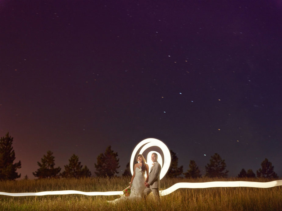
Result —
<instances>
[{"instance_id":1,"label":"whole row of dark pine trees along the field's far edge","mask_svg":"<svg viewBox=\"0 0 282 211\"><path fill-rule=\"evenodd\" d=\"M9 135L9 132L1 137L0 140L0 180L14 180L20 178L21 174L16 172L17 169L21 168L21 161L14 163L15 151L12 147L13 138ZM176 153L170 150L171 164L170 168L166 174L168 178L178 178L184 175L185 178L200 178L202 174L195 162L195 160L190 160L189 169L183 172L183 166L178 167L178 157ZM95 164L95 175L100 177L113 177L118 174L117 171L119 166L119 159L117 158L118 153L108 146L105 153L101 153L97 157L97 164ZM137 162L137 161L136 161ZM69 159L69 164L64 166L64 171L61 172L60 167L55 167L55 157L51 151L47 151L46 155L43 155L41 162L37 162L39 168L32 174L37 178L82 178L91 177L91 171L88 167L79 162L79 157L73 154ZM215 153L211 156L210 163L205 166L205 177L222 177L226 178L228 176L228 170L226 170L225 160L223 160L219 154ZM123 172L123 176L131 176L130 164L127 163L126 169ZM265 159L261 163L261 168L256 171L256 176L258 178L278 178L278 175L274 172L274 166L268 159ZM255 173L252 169L247 172L242 169L238 174L239 178L255 177ZM24 177L28 179L27 175Z\"/></svg>"}]
</instances>

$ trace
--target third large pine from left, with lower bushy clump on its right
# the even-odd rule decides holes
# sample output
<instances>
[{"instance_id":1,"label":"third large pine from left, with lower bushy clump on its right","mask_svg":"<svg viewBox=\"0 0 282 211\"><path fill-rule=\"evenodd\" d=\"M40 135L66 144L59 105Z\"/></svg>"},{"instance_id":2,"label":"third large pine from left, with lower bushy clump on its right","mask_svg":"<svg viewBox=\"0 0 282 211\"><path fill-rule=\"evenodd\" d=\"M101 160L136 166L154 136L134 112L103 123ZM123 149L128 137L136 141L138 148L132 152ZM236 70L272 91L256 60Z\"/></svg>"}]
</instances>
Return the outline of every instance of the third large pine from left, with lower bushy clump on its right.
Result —
<instances>
[{"instance_id":1,"label":"third large pine from left, with lower bushy clump on its right","mask_svg":"<svg viewBox=\"0 0 282 211\"><path fill-rule=\"evenodd\" d=\"M78 156L73 154L69 159L69 164L65 165L65 171L60 174L64 178L81 178L81 177L91 177L91 171L84 166L82 168L81 162L78 161Z\"/></svg>"}]
</instances>

